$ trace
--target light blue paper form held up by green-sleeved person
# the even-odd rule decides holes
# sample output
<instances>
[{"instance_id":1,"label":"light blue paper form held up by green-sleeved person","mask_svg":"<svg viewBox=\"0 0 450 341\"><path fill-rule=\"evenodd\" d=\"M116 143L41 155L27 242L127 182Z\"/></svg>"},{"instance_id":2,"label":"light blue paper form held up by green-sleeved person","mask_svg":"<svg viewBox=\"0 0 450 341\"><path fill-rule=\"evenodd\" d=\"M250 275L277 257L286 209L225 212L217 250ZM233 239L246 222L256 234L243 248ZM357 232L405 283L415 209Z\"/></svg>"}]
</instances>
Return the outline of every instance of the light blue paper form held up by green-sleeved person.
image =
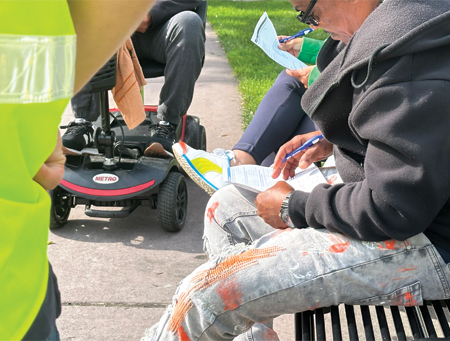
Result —
<instances>
[{"instance_id":1,"label":"light blue paper form held up by green-sleeved person","mask_svg":"<svg viewBox=\"0 0 450 341\"><path fill-rule=\"evenodd\" d=\"M253 32L252 42L258 45L270 58L287 69L299 70L306 66L293 55L278 48L278 37L275 27L267 13L261 16Z\"/></svg>"}]
</instances>

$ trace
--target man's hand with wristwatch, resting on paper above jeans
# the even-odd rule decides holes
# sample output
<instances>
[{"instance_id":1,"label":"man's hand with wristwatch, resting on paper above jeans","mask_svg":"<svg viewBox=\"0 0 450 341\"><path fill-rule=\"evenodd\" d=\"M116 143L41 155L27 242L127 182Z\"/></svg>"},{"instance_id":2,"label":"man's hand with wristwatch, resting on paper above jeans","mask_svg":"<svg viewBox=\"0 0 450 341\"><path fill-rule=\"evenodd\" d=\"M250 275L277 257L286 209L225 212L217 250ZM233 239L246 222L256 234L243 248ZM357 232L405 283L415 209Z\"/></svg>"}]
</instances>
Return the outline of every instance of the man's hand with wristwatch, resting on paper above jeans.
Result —
<instances>
[{"instance_id":1,"label":"man's hand with wristwatch, resting on paper above jeans","mask_svg":"<svg viewBox=\"0 0 450 341\"><path fill-rule=\"evenodd\" d=\"M255 199L258 215L275 229L288 226L280 218L281 204L286 195L294 190L287 182L278 181L274 186L258 194Z\"/></svg>"}]
</instances>

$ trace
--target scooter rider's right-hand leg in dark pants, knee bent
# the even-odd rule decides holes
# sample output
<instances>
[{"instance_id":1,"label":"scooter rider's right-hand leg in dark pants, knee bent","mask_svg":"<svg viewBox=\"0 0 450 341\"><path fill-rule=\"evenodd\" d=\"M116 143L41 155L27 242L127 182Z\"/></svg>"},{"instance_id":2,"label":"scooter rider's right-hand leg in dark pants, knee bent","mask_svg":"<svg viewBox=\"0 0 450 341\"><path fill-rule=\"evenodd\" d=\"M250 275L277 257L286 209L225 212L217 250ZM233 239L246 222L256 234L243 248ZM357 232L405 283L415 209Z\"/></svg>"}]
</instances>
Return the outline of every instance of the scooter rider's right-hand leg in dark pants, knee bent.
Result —
<instances>
[{"instance_id":1,"label":"scooter rider's right-hand leg in dark pants, knee bent","mask_svg":"<svg viewBox=\"0 0 450 341\"><path fill-rule=\"evenodd\" d=\"M205 32L191 11L174 15L162 27L132 37L139 57L166 64L159 95L158 118L178 124L186 114L205 55Z\"/></svg>"}]
</instances>

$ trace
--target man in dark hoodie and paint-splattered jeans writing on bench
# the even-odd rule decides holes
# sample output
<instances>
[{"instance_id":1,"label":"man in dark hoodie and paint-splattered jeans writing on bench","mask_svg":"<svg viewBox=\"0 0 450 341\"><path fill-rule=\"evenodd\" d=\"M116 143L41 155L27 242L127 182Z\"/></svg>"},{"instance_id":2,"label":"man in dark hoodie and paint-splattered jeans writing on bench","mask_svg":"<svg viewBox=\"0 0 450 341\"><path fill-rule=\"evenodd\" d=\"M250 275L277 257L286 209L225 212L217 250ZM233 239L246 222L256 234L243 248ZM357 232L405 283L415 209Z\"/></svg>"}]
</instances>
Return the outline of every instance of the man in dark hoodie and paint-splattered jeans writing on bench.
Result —
<instances>
[{"instance_id":1,"label":"man in dark hoodie and paint-splattered jeans writing on bench","mask_svg":"<svg viewBox=\"0 0 450 341\"><path fill-rule=\"evenodd\" d=\"M210 260L149 340L276 340L282 314L450 297L450 2L291 2L331 34L302 107L326 138L310 160L333 148L344 183L217 191L205 213ZM281 160L304 141L281 147L274 177L292 175L306 154Z\"/></svg>"}]
</instances>

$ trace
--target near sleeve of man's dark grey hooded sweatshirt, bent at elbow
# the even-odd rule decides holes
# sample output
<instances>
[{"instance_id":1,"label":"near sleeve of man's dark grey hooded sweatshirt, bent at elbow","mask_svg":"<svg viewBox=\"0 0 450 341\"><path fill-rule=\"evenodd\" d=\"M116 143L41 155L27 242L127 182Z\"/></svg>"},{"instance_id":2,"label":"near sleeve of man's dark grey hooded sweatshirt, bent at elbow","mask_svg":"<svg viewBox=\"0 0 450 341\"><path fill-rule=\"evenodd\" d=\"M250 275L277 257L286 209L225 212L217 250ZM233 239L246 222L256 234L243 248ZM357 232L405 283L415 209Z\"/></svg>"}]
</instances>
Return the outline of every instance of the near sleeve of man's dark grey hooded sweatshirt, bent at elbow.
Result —
<instances>
[{"instance_id":1,"label":"near sleeve of man's dark grey hooded sweatshirt, bent at elbow","mask_svg":"<svg viewBox=\"0 0 450 341\"><path fill-rule=\"evenodd\" d=\"M294 192L294 225L367 241L424 232L450 196L449 93L450 83L436 79L368 91L349 117L357 138L367 143L365 179Z\"/></svg>"}]
</instances>

